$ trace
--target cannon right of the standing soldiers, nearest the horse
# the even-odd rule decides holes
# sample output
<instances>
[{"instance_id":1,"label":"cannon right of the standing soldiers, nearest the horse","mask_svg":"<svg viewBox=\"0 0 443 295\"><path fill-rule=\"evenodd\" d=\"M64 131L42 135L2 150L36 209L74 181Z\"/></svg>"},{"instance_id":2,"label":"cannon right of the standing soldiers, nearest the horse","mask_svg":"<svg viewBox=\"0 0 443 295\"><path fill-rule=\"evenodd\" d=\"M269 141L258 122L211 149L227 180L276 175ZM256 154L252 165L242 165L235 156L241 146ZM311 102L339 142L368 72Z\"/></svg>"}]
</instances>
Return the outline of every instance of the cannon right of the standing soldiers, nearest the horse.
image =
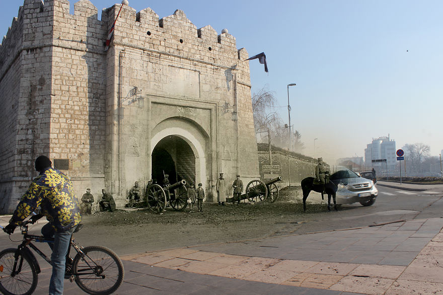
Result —
<instances>
[{"instance_id":1,"label":"cannon right of the standing soldiers, nearest the horse","mask_svg":"<svg viewBox=\"0 0 443 295\"><path fill-rule=\"evenodd\" d=\"M267 202L273 203L278 199L278 186L276 182L281 181L281 176L274 179L268 180L264 183L261 180L251 180L246 186L245 193L240 196L240 200L245 200L247 198L252 199L254 202L260 202L266 200ZM227 198L227 202L236 202L237 198Z\"/></svg>"}]
</instances>

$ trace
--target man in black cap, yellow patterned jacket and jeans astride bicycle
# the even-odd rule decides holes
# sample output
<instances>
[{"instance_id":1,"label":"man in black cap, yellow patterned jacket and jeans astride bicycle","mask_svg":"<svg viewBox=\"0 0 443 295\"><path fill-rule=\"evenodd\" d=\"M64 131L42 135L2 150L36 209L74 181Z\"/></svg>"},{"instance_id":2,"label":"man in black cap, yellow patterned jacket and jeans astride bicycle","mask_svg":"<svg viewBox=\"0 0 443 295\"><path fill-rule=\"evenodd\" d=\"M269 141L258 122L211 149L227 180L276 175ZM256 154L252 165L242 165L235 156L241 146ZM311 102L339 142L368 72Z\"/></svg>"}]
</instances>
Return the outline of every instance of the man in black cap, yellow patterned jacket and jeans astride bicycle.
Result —
<instances>
[{"instance_id":1,"label":"man in black cap, yellow patterned jacket and jeans astride bicycle","mask_svg":"<svg viewBox=\"0 0 443 295\"><path fill-rule=\"evenodd\" d=\"M42 228L45 237L54 237L51 263L52 275L49 283L49 294L62 294L65 259L72 233L82 220L80 206L72 189L72 182L66 175L52 168L52 162L45 156L35 160L36 177L28 191L22 196L9 225L4 228L8 234L14 233L22 220L40 206L41 213L32 216L35 222L46 216L49 223Z\"/></svg>"}]
</instances>

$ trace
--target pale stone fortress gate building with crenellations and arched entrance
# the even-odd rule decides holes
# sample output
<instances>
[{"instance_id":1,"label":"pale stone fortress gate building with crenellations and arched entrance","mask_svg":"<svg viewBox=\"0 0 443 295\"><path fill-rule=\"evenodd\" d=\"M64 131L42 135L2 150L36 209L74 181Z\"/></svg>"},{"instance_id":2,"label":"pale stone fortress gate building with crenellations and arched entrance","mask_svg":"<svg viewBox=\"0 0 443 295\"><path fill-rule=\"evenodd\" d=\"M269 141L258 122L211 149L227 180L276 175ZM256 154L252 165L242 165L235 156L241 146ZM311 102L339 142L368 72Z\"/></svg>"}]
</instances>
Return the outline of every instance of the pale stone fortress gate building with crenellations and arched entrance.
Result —
<instances>
[{"instance_id":1,"label":"pale stone fortress gate building with crenellations and arched entrance","mask_svg":"<svg viewBox=\"0 0 443 295\"><path fill-rule=\"evenodd\" d=\"M121 4L25 0L0 46L0 212L11 212L47 155L80 197L105 188L117 206L135 181L219 172L259 177L247 51L227 30L197 29ZM230 185L228 185L230 187Z\"/></svg>"}]
</instances>

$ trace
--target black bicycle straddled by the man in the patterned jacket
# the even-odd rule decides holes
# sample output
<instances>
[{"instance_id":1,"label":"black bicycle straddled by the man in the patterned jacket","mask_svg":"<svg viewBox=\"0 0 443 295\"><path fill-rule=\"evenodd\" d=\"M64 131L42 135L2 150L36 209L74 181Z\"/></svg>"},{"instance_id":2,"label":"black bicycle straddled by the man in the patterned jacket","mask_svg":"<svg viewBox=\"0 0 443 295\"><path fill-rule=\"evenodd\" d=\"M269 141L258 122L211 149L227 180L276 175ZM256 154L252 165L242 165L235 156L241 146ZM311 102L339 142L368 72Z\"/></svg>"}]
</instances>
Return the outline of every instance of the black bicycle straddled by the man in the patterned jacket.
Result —
<instances>
[{"instance_id":1,"label":"black bicycle straddled by the man in the patterned jacket","mask_svg":"<svg viewBox=\"0 0 443 295\"><path fill-rule=\"evenodd\" d=\"M38 274L41 272L33 249L44 260L51 264L50 258L41 252L32 241L38 243L53 242L53 238L45 238L28 234L26 220L19 226L23 235L23 242L15 248L8 248L0 252L0 291L7 295L26 295L34 292L37 287ZM83 225L79 224L74 233L80 231ZM1 229L3 227L0 226ZM70 249L77 251L72 259ZM101 246L82 247L72 238L69 242L67 260L72 265L66 266L65 278L75 281L77 285L89 294L110 294L117 290L124 278L123 264L112 250ZM67 277L66 277L67 276Z\"/></svg>"}]
</instances>

